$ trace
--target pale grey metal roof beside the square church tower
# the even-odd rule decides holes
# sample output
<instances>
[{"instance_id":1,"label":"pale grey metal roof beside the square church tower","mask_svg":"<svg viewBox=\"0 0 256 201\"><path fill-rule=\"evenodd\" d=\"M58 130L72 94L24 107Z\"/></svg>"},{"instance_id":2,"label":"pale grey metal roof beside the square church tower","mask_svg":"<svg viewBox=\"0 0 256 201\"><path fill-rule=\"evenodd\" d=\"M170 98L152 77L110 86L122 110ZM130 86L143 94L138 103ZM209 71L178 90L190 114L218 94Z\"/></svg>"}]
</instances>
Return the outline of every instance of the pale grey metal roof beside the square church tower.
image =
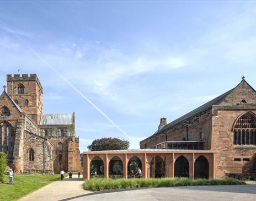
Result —
<instances>
[{"instance_id":1,"label":"pale grey metal roof beside the square church tower","mask_svg":"<svg viewBox=\"0 0 256 201\"><path fill-rule=\"evenodd\" d=\"M68 125L73 122L73 113L42 115L40 125Z\"/></svg>"}]
</instances>

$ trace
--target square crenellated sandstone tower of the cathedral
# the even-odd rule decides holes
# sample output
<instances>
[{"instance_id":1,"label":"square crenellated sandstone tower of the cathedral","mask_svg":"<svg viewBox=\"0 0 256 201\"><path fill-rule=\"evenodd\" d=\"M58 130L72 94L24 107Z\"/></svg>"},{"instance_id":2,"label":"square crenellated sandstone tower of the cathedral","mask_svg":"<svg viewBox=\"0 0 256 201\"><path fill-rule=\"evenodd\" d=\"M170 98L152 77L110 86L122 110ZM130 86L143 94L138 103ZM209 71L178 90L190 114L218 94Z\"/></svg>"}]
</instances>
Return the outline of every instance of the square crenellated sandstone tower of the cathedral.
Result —
<instances>
[{"instance_id":1,"label":"square crenellated sandstone tower of the cathedral","mask_svg":"<svg viewBox=\"0 0 256 201\"><path fill-rule=\"evenodd\" d=\"M42 85L36 74L7 75L7 93L36 123L42 116Z\"/></svg>"}]
</instances>

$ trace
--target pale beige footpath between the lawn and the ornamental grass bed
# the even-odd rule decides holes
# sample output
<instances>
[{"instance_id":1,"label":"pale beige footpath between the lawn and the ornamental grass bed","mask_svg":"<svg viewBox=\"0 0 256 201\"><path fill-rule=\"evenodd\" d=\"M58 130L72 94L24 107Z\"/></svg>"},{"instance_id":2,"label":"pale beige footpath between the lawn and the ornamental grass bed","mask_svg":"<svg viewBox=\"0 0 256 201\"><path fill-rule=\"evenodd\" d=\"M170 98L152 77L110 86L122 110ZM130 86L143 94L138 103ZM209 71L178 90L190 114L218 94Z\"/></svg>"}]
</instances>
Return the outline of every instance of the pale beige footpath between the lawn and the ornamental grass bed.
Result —
<instances>
[{"instance_id":1,"label":"pale beige footpath between the lawn and the ornamental grass bed","mask_svg":"<svg viewBox=\"0 0 256 201\"><path fill-rule=\"evenodd\" d=\"M65 178L64 181L52 182L18 201L56 201L78 195L91 193L84 191L83 179L74 175L73 178Z\"/></svg>"}]
</instances>

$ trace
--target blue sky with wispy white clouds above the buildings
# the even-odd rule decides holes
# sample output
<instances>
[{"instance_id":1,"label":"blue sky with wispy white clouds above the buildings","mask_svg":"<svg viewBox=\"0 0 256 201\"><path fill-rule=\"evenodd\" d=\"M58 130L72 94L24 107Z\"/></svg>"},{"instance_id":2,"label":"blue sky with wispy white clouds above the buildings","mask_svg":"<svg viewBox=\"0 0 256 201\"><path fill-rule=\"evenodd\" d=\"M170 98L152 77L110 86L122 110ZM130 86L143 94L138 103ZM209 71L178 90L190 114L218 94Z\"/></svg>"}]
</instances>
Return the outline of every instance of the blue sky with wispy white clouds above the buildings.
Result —
<instances>
[{"instance_id":1,"label":"blue sky with wispy white clouds above the buildings","mask_svg":"<svg viewBox=\"0 0 256 201\"><path fill-rule=\"evenodd\" d=\"M256 88L256 1L1 1L0 85L36 73L44 113L130 149L232 89ZM3 90L3 89L0 89Z\"/></svg>"}]
</instances>

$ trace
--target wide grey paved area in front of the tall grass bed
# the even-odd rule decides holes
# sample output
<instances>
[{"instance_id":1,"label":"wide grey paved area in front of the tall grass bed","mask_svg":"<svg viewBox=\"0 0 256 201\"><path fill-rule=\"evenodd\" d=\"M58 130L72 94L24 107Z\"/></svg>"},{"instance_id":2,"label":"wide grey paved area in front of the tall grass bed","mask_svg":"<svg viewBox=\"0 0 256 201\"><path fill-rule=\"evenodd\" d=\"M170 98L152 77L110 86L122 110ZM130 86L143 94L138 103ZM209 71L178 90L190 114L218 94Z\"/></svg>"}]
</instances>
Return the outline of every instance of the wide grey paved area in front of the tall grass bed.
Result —
<instances>
[{"instance_id":1,"label":"wide grey paved area in front of the tall grass bed","mask_svg":"<svg viewBox=\"0 0 256 201\"><path fill-rule=\"evenodd\" d=\"M140 190L118 191L112 193L94 193L71 199L82 200L111 200L111 201L255 201L256 185L234 186L191 186L191 187L168 187L147 188Z\"/></svg>"}]
</instances>

